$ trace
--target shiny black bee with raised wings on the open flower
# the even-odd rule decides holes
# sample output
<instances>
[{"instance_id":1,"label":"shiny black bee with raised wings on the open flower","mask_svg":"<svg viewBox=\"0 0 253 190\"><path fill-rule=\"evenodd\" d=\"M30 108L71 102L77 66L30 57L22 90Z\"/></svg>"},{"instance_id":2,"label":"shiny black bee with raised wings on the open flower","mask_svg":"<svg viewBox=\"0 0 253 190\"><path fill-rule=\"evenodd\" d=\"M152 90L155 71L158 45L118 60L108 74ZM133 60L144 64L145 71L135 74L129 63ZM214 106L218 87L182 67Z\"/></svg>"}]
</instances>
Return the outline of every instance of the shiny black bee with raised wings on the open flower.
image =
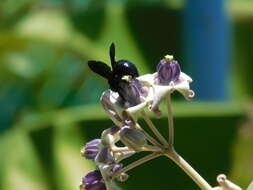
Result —
<instances>
[{"instance_id":1,"label":"shiny black bee with raised wings on the open flower","mask_svg":"<svg viewBox=\"0 0 253 190\"><path fill-rule=\"evenodd\" d=\"M88 65L93 72L106 78L110 89L114 92L118 92L124 100L125 95L123 94L124 90L122 89L122 86L125 86L125 84L127 84L127 81L123 80L122 77L130 75L132 78L136 78L139 76L139 73L136 66L132 62L124 59L119 61L115 60L114 43L112 43L110 46L109 54L112 69L101 61L88 61Z\"/></svg>"}]
</instances>

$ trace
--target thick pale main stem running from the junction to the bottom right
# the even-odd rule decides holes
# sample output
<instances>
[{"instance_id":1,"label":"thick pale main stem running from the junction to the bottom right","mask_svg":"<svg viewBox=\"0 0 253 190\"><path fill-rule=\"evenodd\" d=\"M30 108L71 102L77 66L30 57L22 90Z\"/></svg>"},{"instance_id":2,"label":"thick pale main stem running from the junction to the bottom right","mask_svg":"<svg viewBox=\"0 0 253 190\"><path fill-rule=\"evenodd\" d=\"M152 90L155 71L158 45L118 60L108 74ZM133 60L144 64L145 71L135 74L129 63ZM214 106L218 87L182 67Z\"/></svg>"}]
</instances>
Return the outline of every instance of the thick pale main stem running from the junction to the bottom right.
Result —
<instances>
[{"instance_id":1,"label":"thick pale main stem running from the junction to the bottom right","mask_svg":"<svg viewBox=\"0 0 253 190\"><path fill-rule=\"evenodd\" d=\"M173 160L202 190L212 190L207 181L194 170L177 152L172 149L164 153L165 156Z\"/></svg>"}]
</instances>

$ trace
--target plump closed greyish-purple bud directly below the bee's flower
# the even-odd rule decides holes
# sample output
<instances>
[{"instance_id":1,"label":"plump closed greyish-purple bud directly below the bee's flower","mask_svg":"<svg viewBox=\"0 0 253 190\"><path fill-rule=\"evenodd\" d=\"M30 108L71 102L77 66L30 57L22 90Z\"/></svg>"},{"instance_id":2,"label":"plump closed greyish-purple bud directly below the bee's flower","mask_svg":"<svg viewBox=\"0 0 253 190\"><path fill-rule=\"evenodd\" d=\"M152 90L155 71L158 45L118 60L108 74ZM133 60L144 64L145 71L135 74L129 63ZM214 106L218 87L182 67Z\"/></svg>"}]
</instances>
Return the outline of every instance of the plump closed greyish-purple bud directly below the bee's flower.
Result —
<instances>
[{"instance_id":1,"label":"plump closed greyish-purple bud directly below the bee's flower","mask_svg":"<svg viewBox=\"0 0 253 190\"><path fill-rule=\"evenodd\" d=\"M144 133L138 129L123 127L120 130L121 141L135 151L140 151L147 145L147 140Z\"/></svg>"}]
</instances>

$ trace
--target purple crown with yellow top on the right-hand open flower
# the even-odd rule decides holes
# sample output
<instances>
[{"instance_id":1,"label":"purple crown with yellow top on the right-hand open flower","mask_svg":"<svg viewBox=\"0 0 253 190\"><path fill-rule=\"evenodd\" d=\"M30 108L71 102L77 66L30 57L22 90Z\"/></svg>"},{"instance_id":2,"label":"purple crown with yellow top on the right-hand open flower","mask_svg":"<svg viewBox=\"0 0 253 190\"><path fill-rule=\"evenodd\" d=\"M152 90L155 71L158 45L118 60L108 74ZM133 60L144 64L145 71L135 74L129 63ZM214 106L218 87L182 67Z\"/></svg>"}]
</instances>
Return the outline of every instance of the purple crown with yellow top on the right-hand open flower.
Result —
<instances>
[{"instance_id":1,"label":"purple crown with yellow top on the right-hand open flower","mask_svg":"<svg viewBox=\"0 0 253 190\"><path fill-rule=\"evenodd\" d=\"M177 61L170 59L162 59L157 65L158 81L161 85L169 85L169 83L178 80L181 69Z\"/></svg>"}]
</instances>

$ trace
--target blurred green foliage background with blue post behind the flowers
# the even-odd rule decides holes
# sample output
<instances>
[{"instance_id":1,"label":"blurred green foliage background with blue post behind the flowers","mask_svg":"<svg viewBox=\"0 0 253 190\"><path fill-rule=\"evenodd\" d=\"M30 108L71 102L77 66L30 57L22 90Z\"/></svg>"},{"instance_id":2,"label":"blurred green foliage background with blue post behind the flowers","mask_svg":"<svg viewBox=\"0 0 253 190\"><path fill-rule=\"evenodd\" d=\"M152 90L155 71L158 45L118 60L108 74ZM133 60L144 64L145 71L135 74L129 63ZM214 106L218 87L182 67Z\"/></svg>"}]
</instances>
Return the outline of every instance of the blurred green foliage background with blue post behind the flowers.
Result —
<instances>
[{"instance_id":1,"label":"blurred green foliage background with blue post behind the flowers","mask_svg":"<svg viewBox=\"0 0 253 190\"><path fill-rule=\"evenodd\" d=\"M193 102L173 98L176 149L212 185L225 173L246 188L253 180L253 1L203 2L1 0L0 189L78 189L94 169L80 148L112 122L99 105L108 85L86 63L109 63L111 42L141 74L154 72L165 54L179 60L198 93ZM166 114L154 122L166 135ZM126 190L198 189L166 158L129 174L120 184Z\"/></svg>"}]
</instances>

